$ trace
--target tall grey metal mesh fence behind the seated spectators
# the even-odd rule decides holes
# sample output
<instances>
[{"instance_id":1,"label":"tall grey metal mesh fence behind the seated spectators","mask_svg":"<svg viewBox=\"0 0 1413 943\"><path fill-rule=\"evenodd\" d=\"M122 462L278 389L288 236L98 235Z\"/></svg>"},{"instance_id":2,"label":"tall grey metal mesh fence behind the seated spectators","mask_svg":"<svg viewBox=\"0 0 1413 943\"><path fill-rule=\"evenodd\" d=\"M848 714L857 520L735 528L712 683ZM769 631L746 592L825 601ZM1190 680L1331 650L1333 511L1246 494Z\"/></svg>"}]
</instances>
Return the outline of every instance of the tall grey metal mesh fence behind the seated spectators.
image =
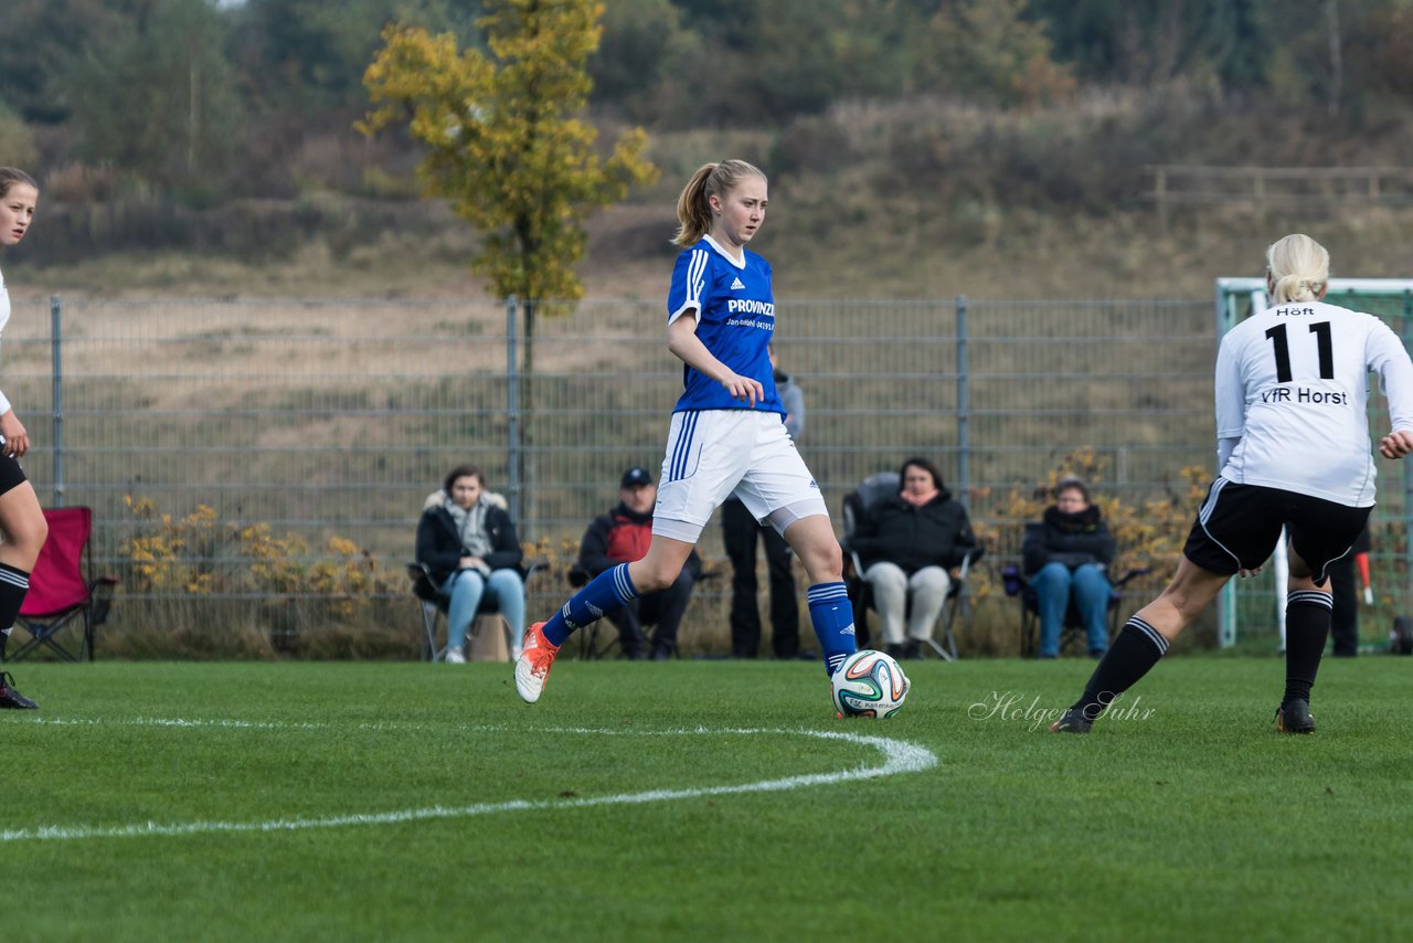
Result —
<instances>
[{"instance_id":1,"label":"tall grey metal mesh fence behind the seated spectators","mask_svg":"<svg viewBox=\"0 0 1413 943\"><path fill-rule=\"evenodd\" d=\"M681 389L661 304L543 308L533 336L526 314L16 301L3 387L41 500L95 509L95 563L122 599L403 598L417 517L452 465L480 464L521 537L554 549L616 500L625 467L661 461ZM1133 505L1211 468L1211 301L783 301L777 317L831 509L913 454L981 527L1077 450ZM702 550L722 556L716 527ZM540 608L565 591L533 588Z\"/></svg>"}]
</instances>

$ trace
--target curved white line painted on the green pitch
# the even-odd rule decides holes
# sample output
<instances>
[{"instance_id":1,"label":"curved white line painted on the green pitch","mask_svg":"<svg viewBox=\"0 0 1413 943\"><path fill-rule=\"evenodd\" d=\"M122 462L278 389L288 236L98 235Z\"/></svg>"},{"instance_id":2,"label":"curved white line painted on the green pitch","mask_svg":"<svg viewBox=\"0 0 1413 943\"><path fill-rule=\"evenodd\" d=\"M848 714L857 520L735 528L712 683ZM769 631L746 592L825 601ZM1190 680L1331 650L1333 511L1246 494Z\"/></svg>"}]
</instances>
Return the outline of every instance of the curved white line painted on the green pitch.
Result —
<instances>
[{"instance_id":1,"label":"curved white line painted on the green pitch","mask_svg":"<svg viewBox=\"0 0 1413 943\"><path fill-rule=\"evenodd\" d=\"M55 722L55 721L48 721ZM65 721L58 721L65 722ZM78 721L79 724L93 721ZM97 721L102 722L102 721ZM235 721L137 721L141 725L161 727L247 727ZM256 728L283 727L280 724L249 724ZM318 727L312 724L297 724L295 727ZM370 724L367 727L394 727ZM506 730L503 727L480 727L480 730ZM345 826L393 826L411 821L434 821L438 819L465 819L471 816L486 816L500 812L531 812L531 810L560 810L560 809L591 809L595 806L634 806L650 802L674 802L678 799L701 799L706 796L736 796L755 792L784 792L790 789L805 789L810 786L831 786L836 783L861 779L876 779L880 776L896 776L900 773L916 773L931 769L937 765L937 755L930 749L910 744L907 741L892 739L889 737L870 737L865 734L846 734L841 731L818 730L671 730L671 731L622 731L622 730L591 730L591 728L550 728L538 730L541 734L598 734L598 735L646 735L673 737L698 734L729 734L729 735L794 735L814 737L818 739L835 739L862 746L872 746L883 755L879 766L859 766L828 773L805 773L800 776L784 776L780 779L763 779L753 783L738 783L731 786L695 786L691 789L650 789L647 792L619 793L613 796L588 796L554 800L526 800L513 799L509 802L473 803L469 806L430 806L424 809L401 809L393 812L325 816L318 819L271 819L267 821L182 821L160 823L144 821L127 826L41 826L38 828L13 828L0 831L0 843L13 841L76 841L83 838L138 838L144 836L195 836L209 833L271 833L298 831L304 828L341 828Z\"/></svg>"}]
</instances>

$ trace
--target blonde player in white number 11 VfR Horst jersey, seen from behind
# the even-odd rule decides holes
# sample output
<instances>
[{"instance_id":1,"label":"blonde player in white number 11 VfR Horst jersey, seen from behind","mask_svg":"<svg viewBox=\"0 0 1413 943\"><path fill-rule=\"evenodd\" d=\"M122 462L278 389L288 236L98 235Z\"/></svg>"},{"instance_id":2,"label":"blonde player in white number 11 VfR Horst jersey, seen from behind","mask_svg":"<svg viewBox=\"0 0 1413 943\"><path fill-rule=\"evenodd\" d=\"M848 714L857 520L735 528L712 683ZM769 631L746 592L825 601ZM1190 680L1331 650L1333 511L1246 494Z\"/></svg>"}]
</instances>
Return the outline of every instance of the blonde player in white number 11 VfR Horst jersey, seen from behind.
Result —
<instances>
[{"instance_id":1,"label":"blonde player in white number 11 VfR Horst jersey, seen from behind","mask_svg":"<svg viewBox=\"0 0 1413 943\"><path fill-rule=\"evenodd\" d=\"M1275 307L1222 338L1217 353L1217 464L1177 575L1139 609L1051 732L1087 734L1115 698L1232 575L1260 570L1290 533L1286 690L1276 731L1310 734L1310 690L1332 611L1328 568L1348 554L1373 508L1366 380L1379 375L1392 431L1385 458L1413 450L1413 362L1378 318L1324 304L1330 253L1310 236L1266 250Z\"/></svg>"}]
</instances>

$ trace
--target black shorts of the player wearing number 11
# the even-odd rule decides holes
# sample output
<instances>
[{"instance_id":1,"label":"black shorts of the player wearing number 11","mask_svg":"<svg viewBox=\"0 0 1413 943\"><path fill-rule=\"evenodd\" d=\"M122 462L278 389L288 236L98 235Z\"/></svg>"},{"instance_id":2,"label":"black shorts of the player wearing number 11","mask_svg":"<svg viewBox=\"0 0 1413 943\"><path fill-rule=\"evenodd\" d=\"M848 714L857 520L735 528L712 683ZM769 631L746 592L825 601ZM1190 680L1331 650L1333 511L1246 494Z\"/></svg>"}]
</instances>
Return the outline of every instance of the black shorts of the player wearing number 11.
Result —
<instances>
[{"instance_id":1,"label":"black shorts of the player wearing number 11","mask_svg":"<svg viewBox=\"0 0 1413 943\"><path fill-rule=\"evenodd\" d=\"M1316 585L1324 585L1330 563L1349 553L1371 510L1218 478L1197 510L1183 556L1211 573L1255 570L1270 558L1286 527Z\"/></svg>"}]
</instances>

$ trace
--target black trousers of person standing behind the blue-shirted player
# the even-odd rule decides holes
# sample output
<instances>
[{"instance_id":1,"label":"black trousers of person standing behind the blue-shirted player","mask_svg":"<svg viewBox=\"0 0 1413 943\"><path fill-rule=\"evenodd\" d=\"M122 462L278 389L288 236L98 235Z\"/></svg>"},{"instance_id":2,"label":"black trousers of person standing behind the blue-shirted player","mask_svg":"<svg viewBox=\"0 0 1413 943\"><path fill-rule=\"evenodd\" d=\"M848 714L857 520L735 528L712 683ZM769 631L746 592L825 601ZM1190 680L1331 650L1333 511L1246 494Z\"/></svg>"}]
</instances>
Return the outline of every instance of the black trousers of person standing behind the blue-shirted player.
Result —
<instances>
[{"instance_id":1,"label":"black trousers of person standing behind the blue-shirted player","mask_svg":"<svg viewBox=\"0 0 1413 943\"><path fill-rule=\"evenodd\" d=\"M760 611L756 608L756 543L766 547L770 581L770 645L779 659L800 653L800 601L790 571L790 544L774 527L762 527L735 498L721 506L722 543L731 558L731 653L756 657Z\"/></svg>"}]
</instances>

